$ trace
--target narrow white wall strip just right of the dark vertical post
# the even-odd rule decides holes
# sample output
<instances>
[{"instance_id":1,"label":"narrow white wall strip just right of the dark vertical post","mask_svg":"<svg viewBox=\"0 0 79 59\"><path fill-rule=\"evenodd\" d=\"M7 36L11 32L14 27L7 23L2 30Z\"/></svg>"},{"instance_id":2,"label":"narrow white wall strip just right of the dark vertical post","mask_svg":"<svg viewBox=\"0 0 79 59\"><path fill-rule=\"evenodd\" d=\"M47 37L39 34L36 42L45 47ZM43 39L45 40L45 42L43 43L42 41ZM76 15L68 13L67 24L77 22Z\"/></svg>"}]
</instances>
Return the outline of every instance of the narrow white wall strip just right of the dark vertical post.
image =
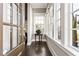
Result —
<instances>
[{"instance_id":1,"label":"narrow white wall strip just right of the dark vertical post","mask_svg":"<svg viewBox=\"0 0 79 59\"><path fill-rule=\"evenodd\" d=\"M32 6L31 4L28 3L28 8L27 8L27 23L28 23L28 42L27 45L31 44L31 40L32 40Z\"/></svg>"}]
</instances>

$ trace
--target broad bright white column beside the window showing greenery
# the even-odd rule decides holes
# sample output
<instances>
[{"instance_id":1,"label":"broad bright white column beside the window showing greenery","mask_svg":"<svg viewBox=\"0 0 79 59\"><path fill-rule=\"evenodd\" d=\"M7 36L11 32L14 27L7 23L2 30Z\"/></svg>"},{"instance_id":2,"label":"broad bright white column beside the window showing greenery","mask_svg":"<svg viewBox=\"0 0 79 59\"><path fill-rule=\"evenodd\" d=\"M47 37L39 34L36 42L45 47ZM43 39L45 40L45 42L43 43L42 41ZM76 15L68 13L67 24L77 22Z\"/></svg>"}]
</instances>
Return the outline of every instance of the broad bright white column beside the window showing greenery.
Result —
<instances>
[{"instance_id":1,"label":"broad bright white column beside the window showing greenery","mask_svg":"<svg viewBox=\"0 0 79 59\"><path fill-rule=\"evenodd\" d=\"M65 35L64 35L64 44L65 46L69 45L70 40L70 4L65 4Z\"/></svg>"}]
</instances>

